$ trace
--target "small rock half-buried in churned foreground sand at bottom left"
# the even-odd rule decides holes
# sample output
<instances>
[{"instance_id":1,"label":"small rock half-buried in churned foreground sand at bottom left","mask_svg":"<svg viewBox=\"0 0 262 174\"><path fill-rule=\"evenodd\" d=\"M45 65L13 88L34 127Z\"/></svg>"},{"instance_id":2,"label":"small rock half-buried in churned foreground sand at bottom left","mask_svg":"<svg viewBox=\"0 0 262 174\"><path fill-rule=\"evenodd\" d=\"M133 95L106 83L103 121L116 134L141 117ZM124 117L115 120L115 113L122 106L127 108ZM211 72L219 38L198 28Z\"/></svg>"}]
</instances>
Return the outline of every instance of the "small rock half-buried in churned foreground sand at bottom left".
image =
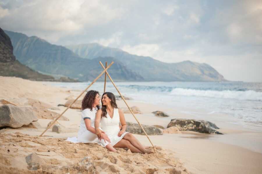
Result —
<instances>
[{"instance_id":1,"label":"small rock half-buried in churned foreground sand at bottom left","mask_svg":"<svg viewBox=\"0 0 262 174\"><path fill-rule=\"evenodd\" d=\"M42 165L45 164L45 161L38 157L36 153L31 153L27 157L25 157L26 163L27 163L27 168L29 170L36 171L38 169L42 169Z\"/></svg>"}]
</instances>

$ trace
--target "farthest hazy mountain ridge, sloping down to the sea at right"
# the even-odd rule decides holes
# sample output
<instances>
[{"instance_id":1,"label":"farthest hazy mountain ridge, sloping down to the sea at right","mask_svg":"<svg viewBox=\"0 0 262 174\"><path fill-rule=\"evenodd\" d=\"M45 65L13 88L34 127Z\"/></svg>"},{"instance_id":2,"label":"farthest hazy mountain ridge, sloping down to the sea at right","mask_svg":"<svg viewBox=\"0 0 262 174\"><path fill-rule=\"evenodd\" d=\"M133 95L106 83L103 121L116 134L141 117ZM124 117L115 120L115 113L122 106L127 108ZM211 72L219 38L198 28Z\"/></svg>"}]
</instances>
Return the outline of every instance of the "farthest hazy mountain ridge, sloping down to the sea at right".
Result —
<instances>
[{"instance_id":1,"label":"farthest hazy mountain ridge, sloping down to the sea at right","mask_svg":"<svg viewBox=\"0 0 262 174\"><path fill-rule=\"evenodd\" d=\"M146 81L226 81L213 67L205 63L183 61L165 63L151 57L132 55L121 49L97 43L65 46L85 59L111 56L137 72Z\"/></svg>"}]
</instances>

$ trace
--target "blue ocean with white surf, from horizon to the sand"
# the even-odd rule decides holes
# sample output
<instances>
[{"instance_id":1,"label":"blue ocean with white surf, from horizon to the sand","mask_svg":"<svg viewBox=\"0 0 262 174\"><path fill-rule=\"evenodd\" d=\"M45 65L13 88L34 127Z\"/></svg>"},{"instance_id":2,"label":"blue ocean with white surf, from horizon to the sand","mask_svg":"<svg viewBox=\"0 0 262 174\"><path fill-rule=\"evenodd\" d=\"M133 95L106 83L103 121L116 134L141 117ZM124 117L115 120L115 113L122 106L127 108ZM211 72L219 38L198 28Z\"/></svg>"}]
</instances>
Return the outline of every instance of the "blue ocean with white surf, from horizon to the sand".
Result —
<instances>
[{"instance_id":1,"label":"blue ocean with white surf, from horizon to the sand","mask_svg":"<svg viewBox=\"0 0 262 174\"><path fill-rule=\"evenodd\" d=\"M91 82L44 82L69 89L84 90ZM115 82L123 96L134 101L164 105L192 116L224 114L233 124L262 128L262 82ZM89 90L102 95L104 82ZM107 92L118 95L110 81ZM79 92L80 93L80 92ZM208 119L208 118L207 118Z\"/></svg>"}]
</instances>

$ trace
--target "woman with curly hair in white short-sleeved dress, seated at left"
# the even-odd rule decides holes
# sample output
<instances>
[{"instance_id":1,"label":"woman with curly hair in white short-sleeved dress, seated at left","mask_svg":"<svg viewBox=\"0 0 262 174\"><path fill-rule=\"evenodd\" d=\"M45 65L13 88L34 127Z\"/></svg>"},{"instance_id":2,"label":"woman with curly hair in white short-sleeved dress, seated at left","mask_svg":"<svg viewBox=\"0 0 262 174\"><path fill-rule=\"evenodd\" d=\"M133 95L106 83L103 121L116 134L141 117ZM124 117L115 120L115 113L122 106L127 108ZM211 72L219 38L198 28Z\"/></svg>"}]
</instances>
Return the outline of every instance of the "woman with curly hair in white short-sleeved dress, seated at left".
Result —
<instances>
[{"instance_id":1,"label":"woman with curly hair in white short-sleeved dress, seated at left","mask_svg":"<svg viewBox=\"0 0 262 174\"><path fill-rule=\"evenodd\" d=\"M100 96L98 91L90 90L86 93L82 101L82 113L80 128L77 135L77 141L83 143L99 143L106 147L110 151L116 151L110 144L110 139L102 131L101 128L101 139L98 139L95 131L95 114L99 109Z\"/></svg>"}]
</instances>

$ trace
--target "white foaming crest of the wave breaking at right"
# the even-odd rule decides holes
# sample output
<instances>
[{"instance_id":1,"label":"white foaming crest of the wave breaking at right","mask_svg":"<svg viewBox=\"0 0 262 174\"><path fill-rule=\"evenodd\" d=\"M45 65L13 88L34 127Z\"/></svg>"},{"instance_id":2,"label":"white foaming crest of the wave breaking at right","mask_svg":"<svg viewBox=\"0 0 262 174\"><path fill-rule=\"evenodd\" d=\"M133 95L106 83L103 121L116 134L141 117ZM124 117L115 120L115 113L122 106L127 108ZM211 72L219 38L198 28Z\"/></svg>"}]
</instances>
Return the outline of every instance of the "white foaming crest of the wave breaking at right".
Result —
<instances>
[{"instance_id":1,"label":"white foaming crest of the wave breaking at right","mask_svg":"<svg viewBox=\"0 0 262 174\"><path fill-rule=\"evenodd\" d=\"M184 88L174 88L171 95L180 96L200 96L200 97L210 97L210 98L231 98L238 100L262 100L262 92L256 92L252 90L247 91L212 91L212 90L196 90L196 89L184 89Z\"/></svg>"}]
</instances>

